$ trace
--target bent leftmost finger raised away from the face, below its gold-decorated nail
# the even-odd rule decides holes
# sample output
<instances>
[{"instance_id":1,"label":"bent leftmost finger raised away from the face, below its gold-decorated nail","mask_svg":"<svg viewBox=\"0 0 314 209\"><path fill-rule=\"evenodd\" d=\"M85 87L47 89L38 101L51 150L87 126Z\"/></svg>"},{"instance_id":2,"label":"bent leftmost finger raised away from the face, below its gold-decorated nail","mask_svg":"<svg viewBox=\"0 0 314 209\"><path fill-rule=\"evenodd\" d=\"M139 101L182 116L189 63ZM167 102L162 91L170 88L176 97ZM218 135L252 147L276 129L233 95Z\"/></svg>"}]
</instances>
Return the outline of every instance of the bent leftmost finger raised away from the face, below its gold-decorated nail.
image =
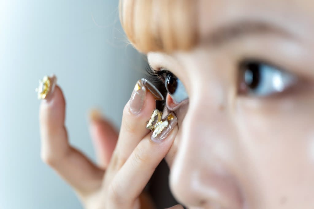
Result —
<instances>
[{"instance_id":1,"label":"bent leftmost finger raised away from the face, below its gold-decorated nail","mask_svg":"<svg viewBox=\"0 0 314 209\"><path fill-rule=\"evenodd\" d=\"M64 119L65 101L56 86L50 97L41 102L41 157L78 192L94 191L101 184L103 171L69 146Z\"/></svg>"}]
</instances>

